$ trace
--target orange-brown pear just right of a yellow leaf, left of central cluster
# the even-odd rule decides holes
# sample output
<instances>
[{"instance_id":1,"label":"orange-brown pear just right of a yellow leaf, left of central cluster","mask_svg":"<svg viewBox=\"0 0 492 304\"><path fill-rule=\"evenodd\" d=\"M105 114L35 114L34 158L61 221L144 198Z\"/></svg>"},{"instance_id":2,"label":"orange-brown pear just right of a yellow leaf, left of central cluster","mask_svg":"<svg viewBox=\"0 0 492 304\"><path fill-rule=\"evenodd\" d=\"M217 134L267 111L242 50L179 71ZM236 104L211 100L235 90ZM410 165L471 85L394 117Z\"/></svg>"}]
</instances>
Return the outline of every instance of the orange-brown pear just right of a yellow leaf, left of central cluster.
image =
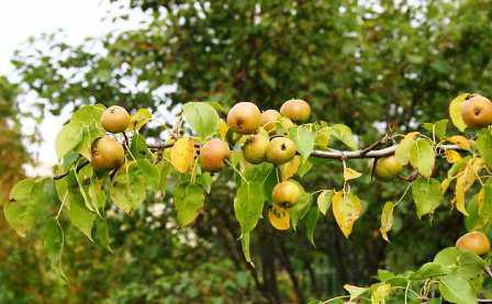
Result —
<instances>
[{"instance_id":1,"label":"orange-brown pear just right of a yellow leaf, left of central cluster","mask_svg":"<svg viewBox=\"0 0 492 304\"><path fill-rule=\"evenodd\" d=\"M216 172L224 168L224 159L231 156L227 143L221 139L211 139L200 149L200 161L202 169L209 172Z\"/></svg>"}]
</instances>

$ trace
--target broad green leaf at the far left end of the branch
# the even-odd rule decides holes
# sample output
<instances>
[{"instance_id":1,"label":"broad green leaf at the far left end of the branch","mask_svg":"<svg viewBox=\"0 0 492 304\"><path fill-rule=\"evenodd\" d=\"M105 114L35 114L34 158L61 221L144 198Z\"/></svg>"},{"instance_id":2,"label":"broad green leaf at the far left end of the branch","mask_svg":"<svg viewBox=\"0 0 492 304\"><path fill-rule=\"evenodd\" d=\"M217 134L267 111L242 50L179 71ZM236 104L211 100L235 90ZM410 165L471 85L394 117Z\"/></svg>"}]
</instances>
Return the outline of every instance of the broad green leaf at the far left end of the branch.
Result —
<instances>
[{"instance_id":1,"label":"broad green leaf at the far left end of the branch","mask_svg":"<svg viewBox=\"0 0 492 304\"><path fill-rule=\"evenodd\" d=\"M3 215L9 225L22 237L45 222L52 215L56 196L53 180L25 179L18 182L10 192ZM52 194L53 192L53 194Z\"/></svg>"}]
</instances>

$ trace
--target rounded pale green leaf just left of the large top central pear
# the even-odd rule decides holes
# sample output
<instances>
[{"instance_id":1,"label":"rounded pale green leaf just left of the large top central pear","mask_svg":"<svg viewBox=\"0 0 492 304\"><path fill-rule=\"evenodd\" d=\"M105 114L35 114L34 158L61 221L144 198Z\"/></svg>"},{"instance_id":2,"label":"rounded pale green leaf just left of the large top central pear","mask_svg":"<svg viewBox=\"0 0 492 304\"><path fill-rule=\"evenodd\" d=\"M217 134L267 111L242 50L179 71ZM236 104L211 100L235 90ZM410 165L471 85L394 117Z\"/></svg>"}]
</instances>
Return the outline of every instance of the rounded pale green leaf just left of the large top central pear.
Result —
<instances>
[{"instance_id":1,"label":"rounded pale green leaf just left of the large top central pear","mask_svg":"<svg viewBox=\"0 0 492 304\"><path fill-rule=\"evenodd\" d=\"M188 102L182 106L185 120L198 135L205 138L219 128L219 114L206 102Z\"/></svg>"}]
</instances>

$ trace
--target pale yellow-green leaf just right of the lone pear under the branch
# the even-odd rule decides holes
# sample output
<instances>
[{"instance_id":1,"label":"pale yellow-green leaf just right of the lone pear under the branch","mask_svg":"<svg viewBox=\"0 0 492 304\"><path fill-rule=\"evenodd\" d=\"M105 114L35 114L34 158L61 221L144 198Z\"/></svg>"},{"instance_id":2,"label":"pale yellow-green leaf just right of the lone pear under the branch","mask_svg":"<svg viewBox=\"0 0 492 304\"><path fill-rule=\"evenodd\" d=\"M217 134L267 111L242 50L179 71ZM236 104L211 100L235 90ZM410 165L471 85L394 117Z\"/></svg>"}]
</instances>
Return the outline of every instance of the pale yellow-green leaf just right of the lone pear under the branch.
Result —
<instances>
[{"instance_id":1,"label":"pale yellow-green leaf just right of the lone pear under the branch","mask_svg":"<svg viewBox=\"0 0 492 304\"><path fill-rule=\"evenodd\" d=\"M425 138L415 140L415 145L410 151L410 164L418 173L429 178L433 173L435 158L436 156L431 140Z\"/></svg>"}]
</instances>

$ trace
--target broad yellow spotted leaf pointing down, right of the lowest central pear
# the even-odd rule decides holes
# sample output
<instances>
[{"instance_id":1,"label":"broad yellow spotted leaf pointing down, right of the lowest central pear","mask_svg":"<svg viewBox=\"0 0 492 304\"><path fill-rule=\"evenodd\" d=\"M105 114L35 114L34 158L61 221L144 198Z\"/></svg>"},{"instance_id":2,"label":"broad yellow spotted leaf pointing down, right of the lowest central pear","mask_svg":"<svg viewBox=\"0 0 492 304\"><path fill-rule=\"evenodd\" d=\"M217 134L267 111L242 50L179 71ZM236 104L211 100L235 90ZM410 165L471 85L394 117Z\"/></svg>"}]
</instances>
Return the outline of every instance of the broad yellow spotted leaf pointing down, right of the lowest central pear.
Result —
<instances>
[{"instance_id":1,"label":"broad yellow spotted leaf pointing down, right of the lowest central pear","mask_svg":"<svg viewBox=\"0 0 492 304\"><path fill-rule=\"evenodd\" d=\"M353 193L336 192L332 198L333 215L346 238L362 213L362 202Z\"/></svg>"}]
</instances>

